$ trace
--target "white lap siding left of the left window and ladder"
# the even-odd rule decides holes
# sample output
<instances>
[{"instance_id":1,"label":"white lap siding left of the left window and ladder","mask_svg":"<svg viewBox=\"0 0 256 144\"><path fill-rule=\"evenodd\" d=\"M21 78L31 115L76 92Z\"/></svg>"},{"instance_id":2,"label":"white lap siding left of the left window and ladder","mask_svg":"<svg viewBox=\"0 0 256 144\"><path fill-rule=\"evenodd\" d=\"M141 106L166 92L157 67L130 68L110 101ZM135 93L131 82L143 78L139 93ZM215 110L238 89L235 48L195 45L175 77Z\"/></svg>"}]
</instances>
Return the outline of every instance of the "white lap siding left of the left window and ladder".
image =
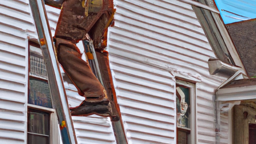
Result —
<instances>
[{"instance_id":1,"label":"white lap siding left of the left window and ladder","mask_svg":"<svg viewBox=\"0 0 256 144\"><path fill-rule=\"evenodd\" d=\"M1 0L0 143L26 143L27 38L35 36L28 0Z\"/></svg>"}]
</instances>

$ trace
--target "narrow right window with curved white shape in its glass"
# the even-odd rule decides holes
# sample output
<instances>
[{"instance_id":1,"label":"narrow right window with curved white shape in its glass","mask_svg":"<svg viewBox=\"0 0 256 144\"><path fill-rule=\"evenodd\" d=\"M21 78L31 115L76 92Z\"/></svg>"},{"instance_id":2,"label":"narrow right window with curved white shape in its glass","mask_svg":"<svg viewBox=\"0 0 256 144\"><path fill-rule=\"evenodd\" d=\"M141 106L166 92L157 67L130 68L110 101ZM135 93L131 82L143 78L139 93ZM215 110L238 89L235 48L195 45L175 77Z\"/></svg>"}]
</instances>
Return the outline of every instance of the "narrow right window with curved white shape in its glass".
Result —
<instances>
[{"instance_id":1,"label":"narrow right window with curved white shape in its glass","mask_svg":"<svg viewBox=\"0 0 256 144\"><path fill-rule=\"evenodd\" d=\"M196 98L195 84L176 79L177 144L195 144Z\"/></svg>"}]
</instances>

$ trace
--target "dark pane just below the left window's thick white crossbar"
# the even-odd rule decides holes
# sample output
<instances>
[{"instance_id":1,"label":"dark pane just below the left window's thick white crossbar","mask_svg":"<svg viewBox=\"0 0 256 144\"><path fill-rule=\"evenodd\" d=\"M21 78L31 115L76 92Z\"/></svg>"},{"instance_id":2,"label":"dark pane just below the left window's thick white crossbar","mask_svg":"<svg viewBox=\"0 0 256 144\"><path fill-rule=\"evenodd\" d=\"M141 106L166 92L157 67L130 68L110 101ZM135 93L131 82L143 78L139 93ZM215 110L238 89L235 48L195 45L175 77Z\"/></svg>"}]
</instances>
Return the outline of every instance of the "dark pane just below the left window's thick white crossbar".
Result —
<instances>
[{"instance_id":1,"label":"dark pane just below the left window's thick white crossbar","mask_svg":"<svg viewBox=\"0 0 256 144\"><path fill-rule=\"evenodd\" d=\"M49 114L46 112L28 112L28 132L49 135Z\"/></svg>"}]
</instances>

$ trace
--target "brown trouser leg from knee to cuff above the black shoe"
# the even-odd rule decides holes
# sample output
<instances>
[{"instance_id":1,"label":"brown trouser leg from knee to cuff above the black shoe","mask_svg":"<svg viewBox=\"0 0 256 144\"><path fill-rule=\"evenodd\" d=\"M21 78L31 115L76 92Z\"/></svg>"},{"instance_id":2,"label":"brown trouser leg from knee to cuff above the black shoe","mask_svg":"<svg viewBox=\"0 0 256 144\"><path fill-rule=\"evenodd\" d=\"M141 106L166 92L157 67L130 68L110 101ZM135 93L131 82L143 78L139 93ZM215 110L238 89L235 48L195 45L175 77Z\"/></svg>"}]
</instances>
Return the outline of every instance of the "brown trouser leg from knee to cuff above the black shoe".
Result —
<instances>
[{"instance_id":1,"label":"brown trouser leg from knee to cuff above the black shoe","mask_svg":"<svg viewBox=\"0 0 256 144\"><path fill-rule=\"evenodd\" d=\"M78 91L81 90L86 98L104 98L104 87L94 76L88 63L81 59L78 47L65 39L55 40L58 61Z\"/></svg>"}]
</instances>

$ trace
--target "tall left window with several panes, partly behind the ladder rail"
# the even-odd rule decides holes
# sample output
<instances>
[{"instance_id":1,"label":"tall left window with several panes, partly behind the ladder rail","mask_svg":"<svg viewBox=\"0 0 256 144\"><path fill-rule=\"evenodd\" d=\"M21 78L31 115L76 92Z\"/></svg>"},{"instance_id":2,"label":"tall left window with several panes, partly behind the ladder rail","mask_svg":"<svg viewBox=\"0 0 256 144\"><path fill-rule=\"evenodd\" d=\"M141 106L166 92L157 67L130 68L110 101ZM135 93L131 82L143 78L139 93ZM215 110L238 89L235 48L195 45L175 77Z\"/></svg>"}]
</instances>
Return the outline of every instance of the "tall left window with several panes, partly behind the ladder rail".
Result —
<instances>
[{"instance_id":1,"label":"tall left window with several panes, partly behind the ladder rail","mask_svg":"<svg viewBox=\"0 0 256 144\"><path fill-rule=\"evenodd\" d=\"M46 66L40 46L29 42L27 144L59 143L58 120L52 109Z\"/></svg>"}]
</instances>

